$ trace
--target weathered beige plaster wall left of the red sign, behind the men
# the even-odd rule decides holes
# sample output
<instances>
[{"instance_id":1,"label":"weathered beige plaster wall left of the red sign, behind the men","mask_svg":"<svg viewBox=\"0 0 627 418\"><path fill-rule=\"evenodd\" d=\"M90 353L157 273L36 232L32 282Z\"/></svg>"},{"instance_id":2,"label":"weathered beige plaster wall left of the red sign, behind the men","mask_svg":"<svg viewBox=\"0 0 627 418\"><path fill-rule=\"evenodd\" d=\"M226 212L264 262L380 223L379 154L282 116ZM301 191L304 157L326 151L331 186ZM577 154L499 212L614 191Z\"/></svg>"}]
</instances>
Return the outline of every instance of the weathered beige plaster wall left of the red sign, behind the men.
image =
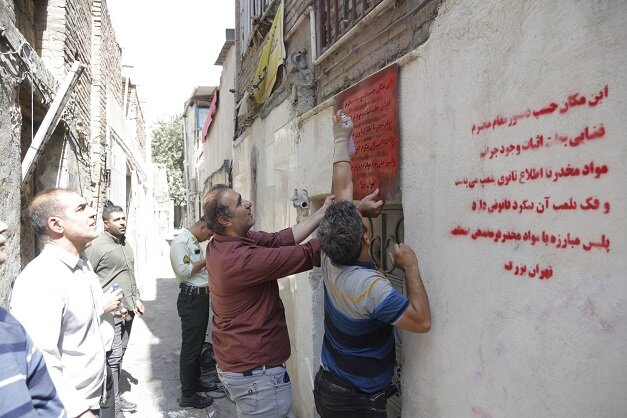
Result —
<instances>
[{"instance_id":1,"label":"weathered beige plaster wall left of the red sign, behind the men","mask_svg":"<svg viewBox=\"0 0 627 418\"><path fill-rule=\"evenodd\" d=\"M233 188L252 200L257 230L278 231L296 223L296 209L290 201L295 188L312 186L308 189L310 197L322 190L313 182L304 183L301 177L300 158L317 158L311 153L297 155L299 137L292 112L288 102L282 103L267 118L257 119L234 144ZM296 416L303 417L313 416L314 411L308 367L314 358L310 277L310 273L303 273L279 280L292 341L288 367L294 410Z\"/></svg>"}]
</instances>

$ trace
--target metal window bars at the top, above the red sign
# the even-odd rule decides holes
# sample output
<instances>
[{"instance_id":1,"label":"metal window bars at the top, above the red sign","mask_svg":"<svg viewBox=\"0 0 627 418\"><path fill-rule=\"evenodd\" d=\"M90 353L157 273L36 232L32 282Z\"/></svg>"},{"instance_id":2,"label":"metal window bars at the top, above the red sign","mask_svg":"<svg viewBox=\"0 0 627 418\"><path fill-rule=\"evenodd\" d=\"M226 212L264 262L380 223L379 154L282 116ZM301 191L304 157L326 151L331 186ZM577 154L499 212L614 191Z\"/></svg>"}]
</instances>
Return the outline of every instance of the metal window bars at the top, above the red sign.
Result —
<instances>
[{"instance_id":1,"label":"metal window bars at the top, above the red sign","mask_svg":"<svg viewBox=\"0 0 627 418\"><path fill-rule=\"evenodd\" d=\"M382 0L319 0L317 2L318 45L324 52Z\"/></svg>"}]
</instances>

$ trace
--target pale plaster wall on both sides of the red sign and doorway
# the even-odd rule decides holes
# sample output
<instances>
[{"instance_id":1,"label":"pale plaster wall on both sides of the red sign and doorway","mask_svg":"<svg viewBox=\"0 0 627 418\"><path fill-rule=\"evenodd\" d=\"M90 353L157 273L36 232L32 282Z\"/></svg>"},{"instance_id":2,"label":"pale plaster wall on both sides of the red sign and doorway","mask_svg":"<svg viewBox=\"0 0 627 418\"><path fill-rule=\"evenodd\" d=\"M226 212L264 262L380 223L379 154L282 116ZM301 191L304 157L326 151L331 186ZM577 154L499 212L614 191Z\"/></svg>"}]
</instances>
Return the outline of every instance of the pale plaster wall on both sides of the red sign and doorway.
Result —
<instances>
[{"instance_id":1,"label":"pale plaster wall on both sides of the red sign and doorway","mask_svg":"<svg viewBox=\"0 0 627 418\"><path fill-rule=\"evenodd\" d=\"M402 333L403 416L627 411L625 28L619 0L451 0L399 59L404 235L433 318ZM329 190L331 114L284 102L236 141L256 228L293 223L282 190ZM294 408L314 416L317 272L281 288Z\"/></svg>"}]
</instances>

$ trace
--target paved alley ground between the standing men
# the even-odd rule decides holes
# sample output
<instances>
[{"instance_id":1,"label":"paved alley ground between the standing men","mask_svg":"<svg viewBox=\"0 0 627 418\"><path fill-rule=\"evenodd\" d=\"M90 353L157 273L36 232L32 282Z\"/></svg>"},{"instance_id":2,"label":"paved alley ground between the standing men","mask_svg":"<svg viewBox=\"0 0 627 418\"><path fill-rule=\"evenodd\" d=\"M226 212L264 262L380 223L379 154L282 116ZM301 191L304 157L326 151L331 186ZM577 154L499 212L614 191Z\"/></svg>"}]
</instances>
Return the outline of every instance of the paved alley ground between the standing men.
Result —
<instances>
[{"instance_id":1,"label":"paved alley ground between the standing men","mask_svg":"<svg viewBox=\"0 0 627 418\"><path fill-rule=\"evenodd\" d=\"M215 400L204 410L178 405L181 325L176 312L178 287L167 254L166 245L161 254L155 254L149 277L138 278L146 314L133 325L120 382L124 397L136 402L138 408L126 416L235 417L235 405L227 398Z\"/></svg>"}]
</instances>

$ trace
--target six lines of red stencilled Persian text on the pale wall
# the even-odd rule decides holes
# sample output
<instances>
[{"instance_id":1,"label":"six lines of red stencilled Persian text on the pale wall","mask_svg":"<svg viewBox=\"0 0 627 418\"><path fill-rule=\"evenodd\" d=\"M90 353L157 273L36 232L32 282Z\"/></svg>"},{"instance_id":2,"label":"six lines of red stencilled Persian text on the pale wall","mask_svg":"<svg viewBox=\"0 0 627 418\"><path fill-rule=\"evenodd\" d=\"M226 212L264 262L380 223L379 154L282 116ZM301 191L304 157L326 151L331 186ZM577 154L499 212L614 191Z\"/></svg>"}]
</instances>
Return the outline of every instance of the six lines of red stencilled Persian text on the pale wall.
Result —
<instances>
[{"instance_id":1,"label":"six lines of red stencilled Persian text on the pale wall","mask_svg":"<svg viewBox=\"0 0 627 418\"><path fill-rule=\"evenodd\" d=\"M516 216L580 216L590 214L598 219L606 219L612 210L611 199L603 196L605 188L602 182L610 175L611 169L601 159L577 157L572 155L566 164L538 165L530 162L517 170L494 167L497 161L505 163L509 159L524 158L534 161L534 155L556 152L572 153L573 148L586 149L601 146L607 141L608 129L602 120L587 120L587 109L603 105L609 98L608 85L601 86L591 94L574 92L561 100L542 104L537 108L528 108L510 116L496 117L472 124L470 133L473 138L481 137L487 131L505 130L508 127L530 123L535 119L559 117L569 112L579 112L581 125L575 129L559 129L554 132L536 132L526 137L516 138L503 134L499 143L490 143L481 149L477 158L483 161L486 168L493 168L492 174L481 176L458 177L453 180L456 188L477 192L488 188L509 190L514 186L529 183L543 184L545 193L542 196L513 196L483 198L475 196L468 202L469 212L477 215L499 216L513 214ZM586 147L586 148L584 148ZM598 153L597 153L598 154ZM579 154L581 155L581 154ZM501 165L502 167L502 165ZM499 171L500 170L500 171ZM591 179L595 183L585 183L589 187L583 194L567 198L555 198L551 191L555 187L561 190L573 189L576 182ZM560 218L558 218L560 219ZM572 225L572 223L569 223ZM535 248L550 248L557 251L582 251L608 254L611 251L609 231L595 231L581 228L574 231L561 227L559 220L547 229L530 229L517 226L501 228L486 227L480 224L470 225L460 222L451 226L450 234L456 239L490 242L494 245L526 245ZM505 260L501 268L514 277L546 280L553 277L554 266L542 265L534 260Z\"/></svg>"}]
</instances>

